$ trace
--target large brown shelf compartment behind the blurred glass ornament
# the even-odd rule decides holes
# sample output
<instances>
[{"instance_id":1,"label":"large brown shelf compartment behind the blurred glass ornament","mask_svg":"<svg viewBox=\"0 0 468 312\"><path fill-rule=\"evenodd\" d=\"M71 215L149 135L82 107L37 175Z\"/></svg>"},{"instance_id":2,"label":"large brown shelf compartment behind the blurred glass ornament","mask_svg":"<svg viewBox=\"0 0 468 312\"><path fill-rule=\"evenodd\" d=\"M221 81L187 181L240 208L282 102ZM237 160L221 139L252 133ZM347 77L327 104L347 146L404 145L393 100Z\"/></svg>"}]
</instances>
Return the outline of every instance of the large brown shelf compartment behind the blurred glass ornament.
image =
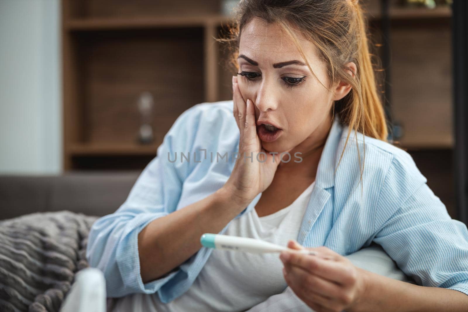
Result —
<instances>
[{"instance_id":1,"label":"large brown shelf compartment behind the blurred glass ornament","mask_svg":"<svg viewBox=\"0 0 468 312\"><path fill-rule=\"evenodd\" d=\"M204 102L203 29L93 32L75 39L84 131L75 143L135 142L142 92L154 97L156 136L184 110Z\"/></svg>"}]
</instances>

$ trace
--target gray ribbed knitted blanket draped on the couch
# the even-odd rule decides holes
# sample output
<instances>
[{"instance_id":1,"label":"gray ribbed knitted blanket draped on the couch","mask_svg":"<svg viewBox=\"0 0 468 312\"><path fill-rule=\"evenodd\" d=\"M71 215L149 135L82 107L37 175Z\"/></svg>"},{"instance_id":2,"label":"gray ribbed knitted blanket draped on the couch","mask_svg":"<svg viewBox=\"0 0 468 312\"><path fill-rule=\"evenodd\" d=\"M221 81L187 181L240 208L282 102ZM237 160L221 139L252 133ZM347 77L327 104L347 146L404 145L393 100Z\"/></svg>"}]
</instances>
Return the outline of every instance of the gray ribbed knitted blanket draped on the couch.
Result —
<instances>
[{"instance_id":1,"label":"gray ribbed knitted blanket draped on the couch","mask_svg":"<svg viewBox=\"0 0 468 312\"><path fill-rule=\"evenodd\" d=\"M0 311L58 312L75 273L88 267L95 220L59 211L0 221Z\"/></svg>"}]
</instances>

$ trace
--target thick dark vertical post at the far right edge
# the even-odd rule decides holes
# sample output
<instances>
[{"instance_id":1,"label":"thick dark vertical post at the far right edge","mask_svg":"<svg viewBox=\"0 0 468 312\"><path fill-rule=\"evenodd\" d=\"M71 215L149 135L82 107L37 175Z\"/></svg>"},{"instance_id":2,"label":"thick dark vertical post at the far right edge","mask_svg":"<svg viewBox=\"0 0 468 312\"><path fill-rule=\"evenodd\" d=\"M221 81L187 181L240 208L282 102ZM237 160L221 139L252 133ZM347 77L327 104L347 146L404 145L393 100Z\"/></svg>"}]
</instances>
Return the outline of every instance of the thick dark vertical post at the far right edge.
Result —
<instances>
[{"instance_id":1,"label":"thick dark vertical post at the far right edge","mask_svg":"<svg viewBox=\"0 0 468 312\"><path fill-rule=\"evenodd\" d=\"M452 4L453 132L458 219L468 225L468 1Z\"/></svg>"}]
</instances>

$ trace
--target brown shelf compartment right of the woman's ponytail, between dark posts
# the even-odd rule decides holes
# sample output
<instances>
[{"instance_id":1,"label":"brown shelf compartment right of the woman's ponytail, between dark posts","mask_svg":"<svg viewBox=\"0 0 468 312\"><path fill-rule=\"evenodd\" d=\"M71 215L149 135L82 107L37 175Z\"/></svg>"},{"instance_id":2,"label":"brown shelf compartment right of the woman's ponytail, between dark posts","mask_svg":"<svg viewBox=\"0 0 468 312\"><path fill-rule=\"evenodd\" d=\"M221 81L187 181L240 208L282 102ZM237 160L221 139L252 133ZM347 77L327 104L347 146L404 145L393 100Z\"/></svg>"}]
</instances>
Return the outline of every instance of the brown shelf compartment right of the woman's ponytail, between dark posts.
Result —
<instances>
[{"instance_id":1,"label":"brown shelf compartment right of the woman's ponytail, between dark posts","mask_svg":"<svg viewBox=\"0 0 468 312\"><path fill-rule=\"evenodd\" d=\"M452 147L450 24L395 26L391 45L392 112L403 128L401 145Z\"/></svg>"}]
</instances>

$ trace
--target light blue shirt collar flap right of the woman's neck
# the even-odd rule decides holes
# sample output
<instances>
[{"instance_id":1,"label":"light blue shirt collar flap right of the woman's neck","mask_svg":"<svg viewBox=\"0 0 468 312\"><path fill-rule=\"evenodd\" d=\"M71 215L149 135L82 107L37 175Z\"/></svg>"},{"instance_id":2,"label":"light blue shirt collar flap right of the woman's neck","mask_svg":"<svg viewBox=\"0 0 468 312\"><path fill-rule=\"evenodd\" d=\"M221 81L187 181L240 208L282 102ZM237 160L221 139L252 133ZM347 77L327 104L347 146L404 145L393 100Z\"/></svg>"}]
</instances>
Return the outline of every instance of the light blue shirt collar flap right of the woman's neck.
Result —
<instances>
[{"instance_id":1,"label":"light blue shirt collar flap right of the woman's neck","mask_svg":"<svg viewBox=\"0 0 468 312\"><path fill-rule=\"evenodd\" d=\"M343 127L340 124L340 118L335 114L333 124L331 126L327 141L322 150L317 174L315 176L315 185L323 189L331 188L335 185L335 166L336 166L336 149L340 142L343 132Z\"/></svg>"}]
</instances>

